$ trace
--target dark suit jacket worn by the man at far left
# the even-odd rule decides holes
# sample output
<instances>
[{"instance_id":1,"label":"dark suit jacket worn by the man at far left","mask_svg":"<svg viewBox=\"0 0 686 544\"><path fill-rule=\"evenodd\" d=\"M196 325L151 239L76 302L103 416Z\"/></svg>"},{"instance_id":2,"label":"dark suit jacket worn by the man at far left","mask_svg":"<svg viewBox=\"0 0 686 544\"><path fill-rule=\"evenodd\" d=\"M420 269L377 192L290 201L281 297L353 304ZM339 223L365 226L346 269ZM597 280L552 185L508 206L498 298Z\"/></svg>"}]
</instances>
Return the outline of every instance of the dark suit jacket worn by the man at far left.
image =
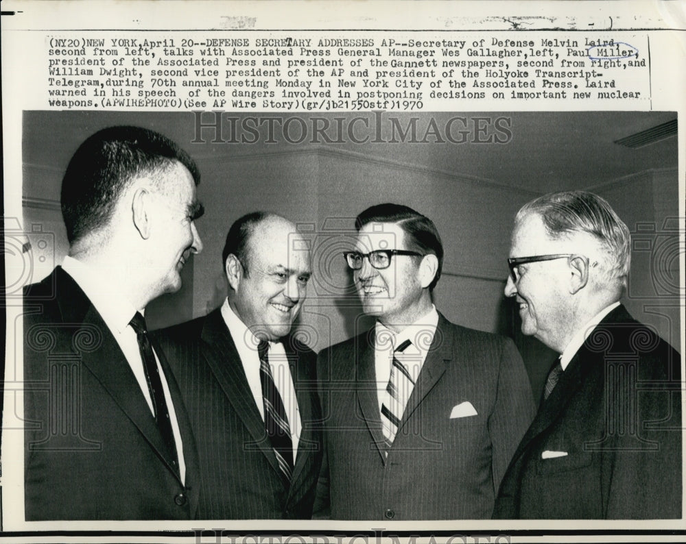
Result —
<instances>
[{"instance_id":1,"label":"dark suit jacket worn by the man at far left","mask_svg":"<svg viewBox=\"0 0 686 544\"><path fill-rule=\"evenodd\" d=\"M24 291L25 517L190 519L198 458L163 352L185 484L117 341L61 267Z\"/></svg>"}]
</instances>

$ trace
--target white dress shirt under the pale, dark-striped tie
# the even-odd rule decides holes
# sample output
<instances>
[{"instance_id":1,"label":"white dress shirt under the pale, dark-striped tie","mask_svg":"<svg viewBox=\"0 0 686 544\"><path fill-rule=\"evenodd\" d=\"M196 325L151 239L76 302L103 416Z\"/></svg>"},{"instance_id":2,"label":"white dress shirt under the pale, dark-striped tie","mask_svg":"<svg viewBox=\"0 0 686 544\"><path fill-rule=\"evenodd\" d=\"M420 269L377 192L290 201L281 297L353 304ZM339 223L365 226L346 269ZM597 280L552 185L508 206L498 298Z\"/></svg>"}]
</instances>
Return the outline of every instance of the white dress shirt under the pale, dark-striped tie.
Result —
<instances>
[{"instance_id":1,"label":"white dress shirt under the pale, dark-striped tie","mask_svg":"<svg viewBox=\"0 0 686 544\"><path fill-rule=\"evenodd\" d=\"M412 342L412 345L407 346L402 353L396 354L396 357L410 371L412 381L416 384L427 358L429 347L431 347L431 342L434 341L436 327L438 327L438 311L433 304L431 304L429 313L397 334L377 321L375 325L374 366L377 377L379 413L382 404L390 406L390 395L386 391L386 386L390 379L395 348L405 340Z\"/></svg>"}]
</instances>

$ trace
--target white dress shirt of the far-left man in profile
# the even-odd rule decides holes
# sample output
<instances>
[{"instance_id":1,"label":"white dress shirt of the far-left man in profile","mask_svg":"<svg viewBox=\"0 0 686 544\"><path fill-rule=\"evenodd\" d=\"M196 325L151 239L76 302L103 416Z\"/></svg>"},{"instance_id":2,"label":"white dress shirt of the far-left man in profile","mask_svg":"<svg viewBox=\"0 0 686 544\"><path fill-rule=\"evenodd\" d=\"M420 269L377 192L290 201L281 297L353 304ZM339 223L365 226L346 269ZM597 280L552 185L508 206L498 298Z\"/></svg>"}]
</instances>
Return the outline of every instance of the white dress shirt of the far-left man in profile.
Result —
<instances>
[{"instance_id":1,"label":"white dress shirt of the far-left man in profile","mask_svg":"<svg viewBox=\"0 0 686 544\"><path fill-rule=\"evenodd\" d=\"M97 312L102 317L102 320L107 325L112 335L115 337L117 344L128 362L131 371L138 382L141 393L145 397L147 406L150 408L150 415L154 417L155 409L150 397L150 390L147 387L147 380L145 379L145 370L143 369L143 359L141 358L141 350L138 345L138 338L133 327L129 325L132 317L137 312L136 308L120 293L113 293L111 286L102 280L102 276L98 274L97 269L89 267L84 262L71 258L69 256L64 258L62 262L62 269L67 272L79 287L86 293L86 297L91 300L91 304L95 307ZM141 312L142 314L143 312ZM153 349L154 352L154 349ZM178 456L178 467L181 475L181 480L185 482L186 478L186 464L183 458L183 443L181 440L181 432L178 428L178 421L176 419L176 410L174 410L174 403L171 401L169 394L169 385L167 378L160 366L160 361L155 354L157 368L160 371L160 378L162 381L162 388L165 393L165 401L167 401L167 409L169 410L169 418L171 419L171 430L174 433L174 441L176 442L176 454Z\"/></svg>"}]
</instances>

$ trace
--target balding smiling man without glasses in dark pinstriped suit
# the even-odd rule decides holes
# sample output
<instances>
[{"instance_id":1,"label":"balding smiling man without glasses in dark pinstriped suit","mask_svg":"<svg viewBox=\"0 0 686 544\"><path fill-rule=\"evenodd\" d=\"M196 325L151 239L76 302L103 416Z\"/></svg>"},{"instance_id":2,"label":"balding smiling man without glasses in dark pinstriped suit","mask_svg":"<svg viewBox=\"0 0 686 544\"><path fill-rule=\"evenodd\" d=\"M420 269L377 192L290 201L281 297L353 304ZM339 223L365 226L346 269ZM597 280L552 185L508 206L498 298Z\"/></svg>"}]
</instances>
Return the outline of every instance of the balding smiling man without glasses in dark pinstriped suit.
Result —
<instances>
[{"instance_id":1,"label":"balding smiling man without glasses in dark pinstriped suit","mask_svg":"<svg viewBox=\"0 0 686 544\"><path fill-rule=\"evenodd\" d=\"M222 254L223 306L161 332L198 441L201 519L311 517L316 355L290 332L311 274L304 244L283 217L241 217Z\"/></svg>"}]
</instances>

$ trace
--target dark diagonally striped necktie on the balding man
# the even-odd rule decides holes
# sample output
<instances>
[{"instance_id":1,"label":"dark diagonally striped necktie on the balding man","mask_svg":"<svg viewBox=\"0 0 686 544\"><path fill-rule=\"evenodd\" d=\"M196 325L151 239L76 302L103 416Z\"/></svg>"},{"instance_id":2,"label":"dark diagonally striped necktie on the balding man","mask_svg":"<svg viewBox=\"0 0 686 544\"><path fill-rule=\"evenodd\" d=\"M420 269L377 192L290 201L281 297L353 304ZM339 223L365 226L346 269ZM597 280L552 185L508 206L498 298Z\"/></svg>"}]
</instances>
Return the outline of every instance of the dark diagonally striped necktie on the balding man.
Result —
<instances>
[{"instance_id":1,"label":"dark diagonally striped necktie on the balding man","mask_svg":"<svg viewBox=\"0 0 686 544\"><path fill-rule=\"evenodd\" d=\"M279 469L281 469L287 482L290 482L293 473L293 442L286 410L283 407L279 390L274 384L272 369L269 366L268 349L269 343L263 340L257 346L260 362L259 377L262 382L262 401L264 404L264 425L267 436L272 441L272 448L276 455L276 461L279 462Z\"/></svg>"}]
</instances>

